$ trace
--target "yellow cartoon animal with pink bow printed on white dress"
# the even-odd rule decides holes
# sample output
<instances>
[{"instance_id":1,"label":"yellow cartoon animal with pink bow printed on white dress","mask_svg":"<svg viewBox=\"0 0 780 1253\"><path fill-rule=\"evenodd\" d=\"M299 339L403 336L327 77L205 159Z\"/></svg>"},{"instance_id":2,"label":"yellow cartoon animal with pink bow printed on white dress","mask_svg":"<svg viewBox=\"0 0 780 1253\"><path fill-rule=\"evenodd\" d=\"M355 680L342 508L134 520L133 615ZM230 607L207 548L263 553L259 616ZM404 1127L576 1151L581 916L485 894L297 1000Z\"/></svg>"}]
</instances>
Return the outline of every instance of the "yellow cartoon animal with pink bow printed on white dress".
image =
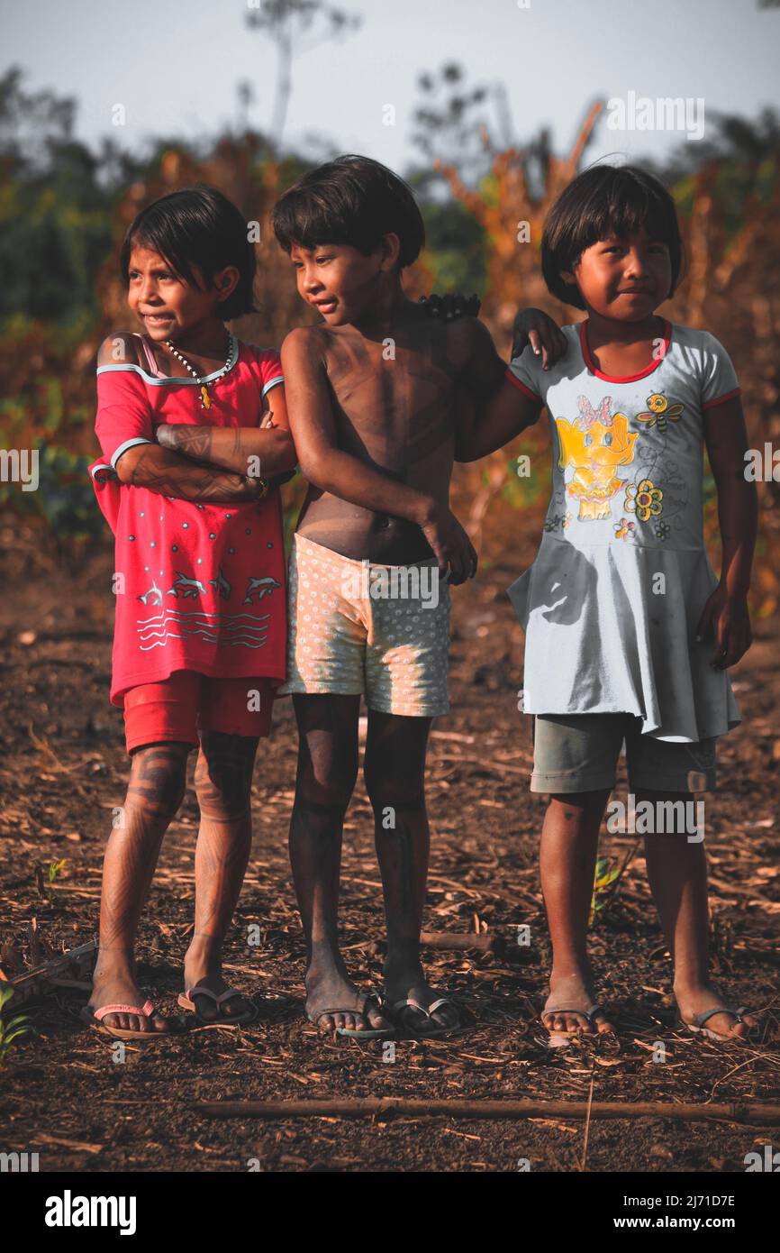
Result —
<instances>
[{"instance_id":1,"label":"yellow cartoon animal with pink bow printed on white dress","mask_svg":"<svg viewBox=\"0 0 780 1253\"><path fill-rule=\"evenodd\" d=\"M558 467L575 467L566 490L580 500L580 521L592 521L610 516L611 500L625 486L615 471L634 460L639 436L629 432L625 413L611 412L611 396L605 396L597 410L586 396L577 398L577 406L576 424L556 419L561 444Z\"/></svg>"}]
</instances>

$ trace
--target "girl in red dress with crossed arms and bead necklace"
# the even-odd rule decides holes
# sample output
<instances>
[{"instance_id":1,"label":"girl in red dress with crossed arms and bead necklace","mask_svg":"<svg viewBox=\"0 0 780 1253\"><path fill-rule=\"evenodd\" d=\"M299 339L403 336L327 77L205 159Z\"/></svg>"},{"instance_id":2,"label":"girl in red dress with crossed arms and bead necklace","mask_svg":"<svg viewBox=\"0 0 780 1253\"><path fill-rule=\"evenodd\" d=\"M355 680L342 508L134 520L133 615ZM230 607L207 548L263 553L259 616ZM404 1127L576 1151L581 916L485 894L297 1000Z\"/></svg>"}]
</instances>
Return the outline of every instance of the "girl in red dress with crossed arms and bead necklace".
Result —
<instances>
[{"instance_id":1,"label":"girl in red dress with crossed arms and bead necklace","mask_svg":"<svg viewBox=\"0 0 780 1253\"><path fill-rule=\"evenodd\" d=\"M105 1034L153 1039L170 1024L139 991L135 935L193 748L195 928L179 1004L228 1025L257 1014L222 979L220 950L249 856L254 756L285 675L278 482L297 459L279 353L225 327L253 309L235 205L208 187L163 197L131 223L120 267L143 333L100 347L90 471L116 541L110 698L131 764L84 1012Z\"/></svg>"}]
</instances>

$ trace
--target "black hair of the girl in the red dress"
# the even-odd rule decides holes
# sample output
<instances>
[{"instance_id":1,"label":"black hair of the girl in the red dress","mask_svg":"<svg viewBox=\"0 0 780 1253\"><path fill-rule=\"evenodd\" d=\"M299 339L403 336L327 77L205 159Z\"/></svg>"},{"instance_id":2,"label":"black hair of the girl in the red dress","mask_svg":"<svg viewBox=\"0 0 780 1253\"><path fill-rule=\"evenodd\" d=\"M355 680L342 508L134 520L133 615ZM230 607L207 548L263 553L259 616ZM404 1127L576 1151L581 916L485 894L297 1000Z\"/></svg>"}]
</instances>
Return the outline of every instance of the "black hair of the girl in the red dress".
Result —
<instances>
[{"instance_id":1,"label":"black hair of the girl in the red dress","mask_svg":"<svg viewBox=\"0 0 780 1253\"><path fill-rule=\"evenodd\" d=\"M164 257L177 278L200 288L193 273L197 266L212 286L214 274L225 266L235 266L239 281L235 289L217 307L223 322L253 313L254 247L249 242L247 222L232 200L214 187L199 183L182 192L153 200L133 219L119 253L119 269L129 284L130 253L135 244L151 248Z\"/></svg>"}]
</instances>

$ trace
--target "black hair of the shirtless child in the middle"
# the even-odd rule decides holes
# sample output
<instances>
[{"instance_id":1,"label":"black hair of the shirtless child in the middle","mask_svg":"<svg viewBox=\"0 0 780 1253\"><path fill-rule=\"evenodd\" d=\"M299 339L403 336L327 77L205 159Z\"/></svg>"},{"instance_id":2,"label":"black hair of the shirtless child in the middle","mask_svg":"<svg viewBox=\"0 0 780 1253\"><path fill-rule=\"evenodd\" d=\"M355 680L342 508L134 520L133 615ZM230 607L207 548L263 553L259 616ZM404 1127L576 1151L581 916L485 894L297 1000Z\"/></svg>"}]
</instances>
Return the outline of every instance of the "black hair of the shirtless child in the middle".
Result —
<instances>
[{"instance_id":1,"label":"black hair of the shirtless child in the middle","mask_svg":"<svg viewBox=\"0 0 780 1253\"><path fill-rule=\"evenodd\" d=\"M401 241L398 266L411 266L426 242L412 188L371 157L346 154L299 178L272 213L277 239L289 254L298 244L352 244L366 257L384 234Z\"/></svg>"}]
</instances>

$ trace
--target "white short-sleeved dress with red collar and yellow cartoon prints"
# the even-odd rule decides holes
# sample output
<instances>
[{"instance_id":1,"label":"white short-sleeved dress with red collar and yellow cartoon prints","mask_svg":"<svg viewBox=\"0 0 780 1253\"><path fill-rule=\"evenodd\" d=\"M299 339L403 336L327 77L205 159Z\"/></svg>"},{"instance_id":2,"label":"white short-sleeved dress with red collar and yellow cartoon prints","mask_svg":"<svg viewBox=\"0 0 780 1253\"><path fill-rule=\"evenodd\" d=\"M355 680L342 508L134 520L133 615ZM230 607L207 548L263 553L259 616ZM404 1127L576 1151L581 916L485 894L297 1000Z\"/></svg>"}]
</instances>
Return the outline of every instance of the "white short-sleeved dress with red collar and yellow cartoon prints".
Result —
<instances>
[{"instance_id":1,"label":"white short-sleeved dress with red collar and yellow cartoon prints","mask_svg":"<svg viewBox=\"0 0 780 1253\"><path fill-rule=\"evenodd\" d=\"M666 323L657 362L603 375L585 322L548 371L531 348L507 377L547 407L552 497L533 565L508 589L526 632L526 713L631 713L657 739L740 722L729 677L696 643L717 584L702 531L704 411L739 395L706 331Z\"/></svg>"}]
</instances>

